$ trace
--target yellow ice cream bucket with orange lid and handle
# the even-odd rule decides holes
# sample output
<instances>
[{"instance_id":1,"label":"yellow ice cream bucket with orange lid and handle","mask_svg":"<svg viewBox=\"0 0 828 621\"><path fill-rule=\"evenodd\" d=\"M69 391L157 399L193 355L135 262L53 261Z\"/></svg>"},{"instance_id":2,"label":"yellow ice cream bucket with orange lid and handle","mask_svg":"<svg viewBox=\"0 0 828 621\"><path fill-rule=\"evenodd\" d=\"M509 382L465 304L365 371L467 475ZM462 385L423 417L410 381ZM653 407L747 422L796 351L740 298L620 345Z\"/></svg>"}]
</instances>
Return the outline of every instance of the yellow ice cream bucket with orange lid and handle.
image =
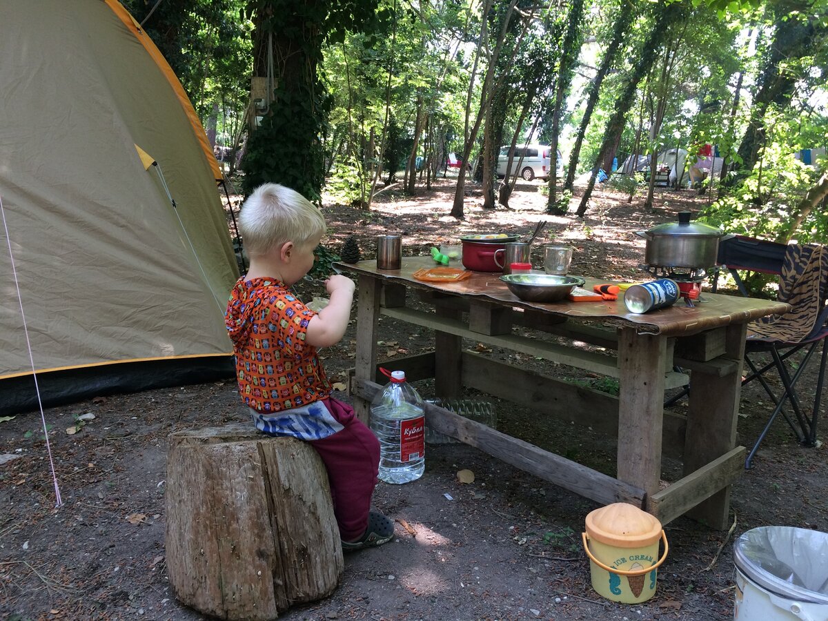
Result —
<instances>
[{"instance_id":1,"label":"yellow ice cream bucket with orange lid and handle","mask_svg":"<svg viewBox=\"0 0 828 621\"><path fill-rule=\"evenodd\" d=\"M598 595L638 604L656 594L658 567L667 558L667 535L655 517L631 504L609 504L586 516L581 539ZM661 558L659 540L664 542Z\"/></svg>"}]
</instances>

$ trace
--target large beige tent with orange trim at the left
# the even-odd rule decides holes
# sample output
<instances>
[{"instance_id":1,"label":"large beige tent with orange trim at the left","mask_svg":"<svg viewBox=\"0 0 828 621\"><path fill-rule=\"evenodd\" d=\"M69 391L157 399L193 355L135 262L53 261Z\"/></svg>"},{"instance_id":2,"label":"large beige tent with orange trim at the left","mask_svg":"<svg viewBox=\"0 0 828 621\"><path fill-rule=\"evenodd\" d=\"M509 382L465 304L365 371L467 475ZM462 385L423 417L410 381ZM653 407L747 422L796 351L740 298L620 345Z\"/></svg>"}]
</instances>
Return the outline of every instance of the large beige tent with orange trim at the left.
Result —
<instances>
[{"instance_id":1,"label":"large beige tent with orange trim at the left","mask_svg":"<svg viewBox=\"0 0 828 621\"><path fill-rule=\"evenodd\" d=\"M44 405L232 374L219 168L152 41L115 0L2 2L0 58L0 414L33 368Z\"/></svg>"}]
</instances>

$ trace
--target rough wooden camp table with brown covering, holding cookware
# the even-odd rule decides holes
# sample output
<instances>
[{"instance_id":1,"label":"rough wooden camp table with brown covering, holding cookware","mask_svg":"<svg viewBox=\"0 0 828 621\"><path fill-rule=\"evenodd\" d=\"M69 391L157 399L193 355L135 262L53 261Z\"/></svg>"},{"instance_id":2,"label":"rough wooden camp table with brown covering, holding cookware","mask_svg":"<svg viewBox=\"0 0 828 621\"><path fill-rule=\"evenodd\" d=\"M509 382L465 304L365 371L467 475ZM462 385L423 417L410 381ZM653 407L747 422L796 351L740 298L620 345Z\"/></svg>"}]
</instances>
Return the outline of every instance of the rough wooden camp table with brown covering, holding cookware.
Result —
<instances>
[{"instance_id":1,"label":"rough wooden camp table with brown covering, holding cookware","mask_svg":"<svg viewBox=\"0 0 828 621\"><path fill-rule=\"evenodd\" d=\"M617 477L507 436L441 407L426 406L434 431L598 503L628 502L662 523L691 513L714 528L729 526L729 489L742 473L744 446L736 446L746 325L784 313L787 304L704 293L644 315L622 301L519 300L499 274L472 272L463 282L420 282L412 274L434 267L431 258L404 258L400 270L378 270L375 261L336 266L359 277L356 365L349 390L359 418L384 383L378 374L380 315L435 330L435 351L393 359L412 381L435 378L439 397L475 388L564 421L618 437ZM594 279L587 278L591 289ZM605 281L604 281L605 282ZM417 291L434 311L406 306ZM539 330L513 334L514 325ZM485 358L462 347L463 339L507 348L619 380L619 397ZM681 372L674 370L681 368ZM691 370L691 375L683 373ZM687 416L664 412L664 391L691 384ZM683 477L662 489L662 448L683 456Z\"/></svg>"}]
</instances>

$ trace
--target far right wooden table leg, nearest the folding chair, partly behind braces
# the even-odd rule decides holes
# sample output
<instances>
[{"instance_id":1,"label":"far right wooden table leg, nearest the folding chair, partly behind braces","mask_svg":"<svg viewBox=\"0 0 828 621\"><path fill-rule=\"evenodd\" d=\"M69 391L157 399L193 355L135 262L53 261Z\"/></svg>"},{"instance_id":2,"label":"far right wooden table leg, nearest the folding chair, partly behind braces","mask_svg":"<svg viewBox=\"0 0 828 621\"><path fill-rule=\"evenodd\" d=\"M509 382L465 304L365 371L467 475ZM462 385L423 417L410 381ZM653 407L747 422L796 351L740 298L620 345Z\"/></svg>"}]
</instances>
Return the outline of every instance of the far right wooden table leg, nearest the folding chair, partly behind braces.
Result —
<instances>
[{"instance_id":1,"label":"far right wooden table leg, nearest the folding chair, partly behind braces","mask_svg":"<svg viewBox=\"0 0 828 621\"><path fill-rule=\"evenodd\" d=\"M718 377L694 370L690 378L690 408L684 449L684 474L732 450L736 445L739 398L742 392L742 362L747 324L729 325L724 338L725 354L737 362L731 373ZM688 512L711 528L729 527L730 487L713 494Z\"/></svg>"}]
</instances>

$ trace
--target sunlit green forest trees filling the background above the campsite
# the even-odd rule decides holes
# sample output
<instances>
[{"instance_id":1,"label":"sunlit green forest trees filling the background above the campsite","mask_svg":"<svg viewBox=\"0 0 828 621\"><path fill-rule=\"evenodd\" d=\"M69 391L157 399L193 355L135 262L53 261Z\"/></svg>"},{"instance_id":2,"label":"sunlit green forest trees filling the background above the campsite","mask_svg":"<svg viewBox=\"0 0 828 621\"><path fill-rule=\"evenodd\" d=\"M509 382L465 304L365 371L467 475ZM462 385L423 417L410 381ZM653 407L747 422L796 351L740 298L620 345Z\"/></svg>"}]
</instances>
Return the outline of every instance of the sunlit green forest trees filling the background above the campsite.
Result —
<instances>
[{"instance_id":1,"label":"sunlit green forest trees filling the background above the campsite","mask_svg":"<svg viewBox=\"0 0 828 621\"><path fill-rule=\"evenodd\" d=\"M663 173L730 232L826 238L828 0L125 5L245 193L275 181L371 209L451 161L463 218L468 183L508 206L525 169L512 155L500 178L498 156L539 142L551 212L579 184L585 215L604 177L652 206Z\"/></svg>"}]
</instances>

